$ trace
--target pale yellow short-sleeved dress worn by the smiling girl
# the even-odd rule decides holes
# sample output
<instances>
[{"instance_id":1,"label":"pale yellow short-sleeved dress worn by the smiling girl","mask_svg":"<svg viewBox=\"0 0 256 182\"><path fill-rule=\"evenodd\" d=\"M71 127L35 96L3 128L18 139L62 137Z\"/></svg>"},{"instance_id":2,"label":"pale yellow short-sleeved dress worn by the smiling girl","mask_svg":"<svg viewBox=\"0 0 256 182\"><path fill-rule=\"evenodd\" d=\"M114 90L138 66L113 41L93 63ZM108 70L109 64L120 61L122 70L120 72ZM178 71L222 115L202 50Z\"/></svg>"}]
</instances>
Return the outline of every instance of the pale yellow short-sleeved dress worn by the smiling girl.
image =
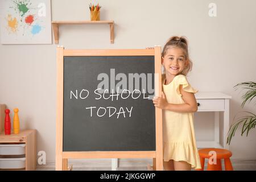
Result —
<instances>
[{"instance_id":1,"label":"pale yellow short-sleeved dress worn by the smiling girl","mask_svg":"<svg viewBox=\"0 0 256 182\"><path fill-rule=\"evenodd\" d=\"M184 75L175 76L168 85L164 85L165 81L166 76L162 75L163 92L170 104L184 104L179 85L182 85L186 92L198 92L192 88ZM163 159L183 160L191 164L192 168L201 168L193 127L193 113L163 110Z\"/></svg>"}]
</instances>

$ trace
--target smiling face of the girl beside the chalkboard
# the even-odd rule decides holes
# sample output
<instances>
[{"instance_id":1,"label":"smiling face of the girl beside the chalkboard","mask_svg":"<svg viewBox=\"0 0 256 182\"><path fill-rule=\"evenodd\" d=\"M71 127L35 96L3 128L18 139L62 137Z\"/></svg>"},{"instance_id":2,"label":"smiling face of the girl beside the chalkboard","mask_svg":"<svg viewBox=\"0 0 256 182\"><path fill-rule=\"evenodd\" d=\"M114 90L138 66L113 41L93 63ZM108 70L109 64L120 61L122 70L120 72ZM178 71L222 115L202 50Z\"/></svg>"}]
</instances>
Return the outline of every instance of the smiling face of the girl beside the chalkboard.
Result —
<instances>
[{"instance_id":1,"label":"smiling face of the girl beside the chalkboard","mask_svg":"<svg viewBox=\"0 0 256 182\"><path fill-rule=\"evenodd\" d=\"M183 49L178 47L168 48L166 55L162 57L162 64L166 73L173 76L179 75L187 65L187 62Z\"/></svg>"}]
</instances>

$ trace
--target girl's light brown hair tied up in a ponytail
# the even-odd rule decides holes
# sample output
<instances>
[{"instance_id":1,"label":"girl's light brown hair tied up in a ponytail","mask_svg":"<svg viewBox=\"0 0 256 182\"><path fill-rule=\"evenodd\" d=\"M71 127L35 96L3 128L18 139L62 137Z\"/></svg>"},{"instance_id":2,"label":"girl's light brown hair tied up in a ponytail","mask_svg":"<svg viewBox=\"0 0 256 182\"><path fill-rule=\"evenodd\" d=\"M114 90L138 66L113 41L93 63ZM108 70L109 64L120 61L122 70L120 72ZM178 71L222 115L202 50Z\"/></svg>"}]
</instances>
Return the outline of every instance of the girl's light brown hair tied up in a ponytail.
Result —
<instances>
[{"instance_id":1,"label":"girl's light brown hair tied up in a ponytail","mask_svg":"<svg viewBox=\"0 0 256 182\"><path fill-rule=\"evenodd\" d=\"M184 36L172 36L167 40L166 44L163 47L162 57L164 57L167 53L168 48L170 47L178 47L183 49L185 59L188 60L188 63L185 64L185 68L181 72L182 75L187 75L189 71L191 71L193 63L188 56L188 40Z\"/></svg>"}]
</instances>

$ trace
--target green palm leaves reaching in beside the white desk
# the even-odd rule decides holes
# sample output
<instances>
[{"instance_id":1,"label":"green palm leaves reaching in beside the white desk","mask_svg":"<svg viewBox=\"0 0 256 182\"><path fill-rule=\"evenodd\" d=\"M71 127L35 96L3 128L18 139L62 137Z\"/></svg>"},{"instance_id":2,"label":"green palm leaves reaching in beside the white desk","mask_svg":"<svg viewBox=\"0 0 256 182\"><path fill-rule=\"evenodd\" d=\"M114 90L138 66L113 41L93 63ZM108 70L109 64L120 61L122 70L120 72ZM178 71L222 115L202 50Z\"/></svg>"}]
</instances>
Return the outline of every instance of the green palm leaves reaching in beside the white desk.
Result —
<instances>
[{"instance_id":1,"label":"green palm leaves reaching in beside the white desk","mask_svg":"<svg viewBox=\"0 0 256 182\"><path fill-rule=\"evenodd\" d=\"M246 102L249 103L251 102L251 100L253 100L253 98L256 98L255 82L241 82L240 84L235 85L234 88L242 88L246 90L246 92L242 96L242 107L245 106ZM246 133L246 137L248 136L249 131L255 128L256 115L249 111L242 111L241 113L243 113L243 116L237 119L235 117L234 120L236 120L236 122L233 123L229 128L228 139L226 141L226 143L228 144L230 144L232 137L234 137L234 134L236 133L238 126L242 125L241 136Z\"/></svg>"}]
</instances>

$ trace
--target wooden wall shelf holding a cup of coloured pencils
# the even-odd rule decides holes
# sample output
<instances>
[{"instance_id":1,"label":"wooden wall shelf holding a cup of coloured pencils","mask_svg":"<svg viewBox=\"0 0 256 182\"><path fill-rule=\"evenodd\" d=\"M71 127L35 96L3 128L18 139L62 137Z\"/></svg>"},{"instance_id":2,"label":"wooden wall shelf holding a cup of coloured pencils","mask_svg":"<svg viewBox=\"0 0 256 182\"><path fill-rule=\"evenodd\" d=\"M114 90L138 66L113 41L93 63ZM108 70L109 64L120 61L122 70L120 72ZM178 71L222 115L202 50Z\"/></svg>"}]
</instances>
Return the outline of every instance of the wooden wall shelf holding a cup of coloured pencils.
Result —
<instances>
[{"instance_id":1,"label":"wooden wall shelf holding a cup of coloured pencils","mask_svg":"<svg viewBox=\"0 0 256 182\"><path fill-rule=\"evenodd\" d=\"M54 34L55 44L59 44L59 26L61 24L109 24L110 43L114 43L114 21L52 21L52 29Z\"/></svg>"}]
</instances>

